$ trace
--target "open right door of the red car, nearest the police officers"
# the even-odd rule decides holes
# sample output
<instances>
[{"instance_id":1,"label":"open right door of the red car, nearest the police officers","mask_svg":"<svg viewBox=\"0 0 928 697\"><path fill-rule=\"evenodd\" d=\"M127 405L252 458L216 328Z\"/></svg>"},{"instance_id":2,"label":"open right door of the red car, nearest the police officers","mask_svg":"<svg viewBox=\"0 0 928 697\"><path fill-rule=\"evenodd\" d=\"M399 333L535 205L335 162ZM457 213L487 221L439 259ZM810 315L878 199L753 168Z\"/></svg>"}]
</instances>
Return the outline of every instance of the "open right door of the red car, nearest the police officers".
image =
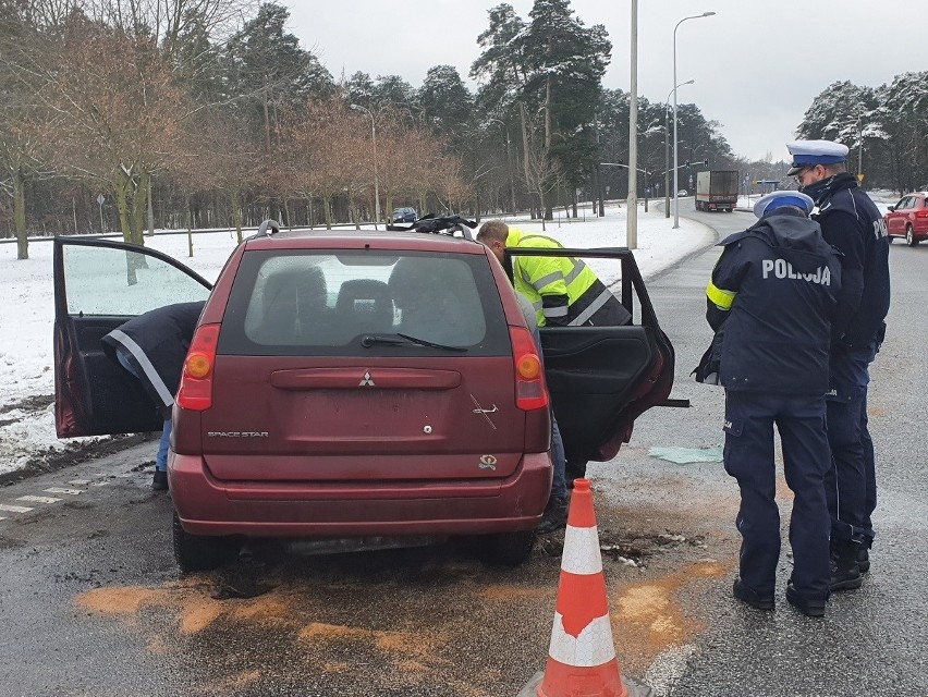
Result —
<instances>
[{"instance_id":1,"label":"open right door of the red car, nearest the police officers","mask_svg":"<svg viewBox=\"0 0 928 697\"><path fill-rule=\"evenodd\" d=\"M506 254L583 259L632 314L631 323L620 327L540 329L545 375L567 462L611 460L628 442L638 416L651 406L675 405L668 401L673 345L660 329L634 255L624 247L509 247Z\"/></svg>"}]
</instances>

